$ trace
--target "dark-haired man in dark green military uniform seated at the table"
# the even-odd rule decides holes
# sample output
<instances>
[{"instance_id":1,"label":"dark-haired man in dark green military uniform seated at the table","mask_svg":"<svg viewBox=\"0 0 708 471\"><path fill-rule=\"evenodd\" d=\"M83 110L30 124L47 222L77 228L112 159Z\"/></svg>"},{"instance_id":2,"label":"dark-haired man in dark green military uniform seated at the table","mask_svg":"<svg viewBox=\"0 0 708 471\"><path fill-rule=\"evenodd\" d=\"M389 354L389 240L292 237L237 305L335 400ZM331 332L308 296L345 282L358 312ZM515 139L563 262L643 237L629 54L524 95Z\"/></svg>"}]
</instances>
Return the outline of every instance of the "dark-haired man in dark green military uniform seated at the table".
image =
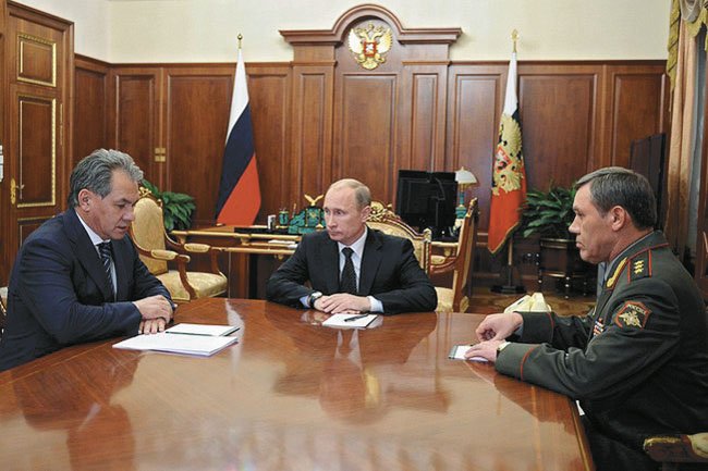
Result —
<instances>
[{"instance_id":1,"label":"dark-haired man in dark green military uniform seated at the table","mask_svg":"<svg viewBox=\"0 0 708 471\"><path fill-rule=\"evenodd\" d=\"M607 263L595 309L585 318L489 315L466 356L579 399L598 471L657 470L642 450L647 436L708 430L708 315L654 231L646 178L607 168L576 188L570 231L583 260Z\"/></svg>"}]
</instances>

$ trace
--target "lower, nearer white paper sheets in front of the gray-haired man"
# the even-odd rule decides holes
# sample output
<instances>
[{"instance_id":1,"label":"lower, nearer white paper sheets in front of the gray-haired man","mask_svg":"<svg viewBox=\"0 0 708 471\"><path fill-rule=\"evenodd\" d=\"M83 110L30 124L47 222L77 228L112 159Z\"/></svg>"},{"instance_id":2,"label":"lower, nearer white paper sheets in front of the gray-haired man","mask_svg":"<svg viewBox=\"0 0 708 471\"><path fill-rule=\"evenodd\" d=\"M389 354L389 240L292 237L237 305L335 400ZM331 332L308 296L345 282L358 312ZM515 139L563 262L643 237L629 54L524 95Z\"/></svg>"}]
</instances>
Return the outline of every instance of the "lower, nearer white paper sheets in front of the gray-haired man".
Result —
<instances>
[{"instance_id":1,"label":"lower, nearer white paper sheets in front of the gray-haired man","mask_svg":"<svg viewBox=\"0 0 708 471\"><path fill-rule=\"evenodd\" d=\"M167 332L159 334L143 334L126 338L113 345L113 348L129 350L155 350L171 354L198 355L209 357L217 351L234 344L237 337L209 335L174 335Z\"/></svg>"}]
</instances>

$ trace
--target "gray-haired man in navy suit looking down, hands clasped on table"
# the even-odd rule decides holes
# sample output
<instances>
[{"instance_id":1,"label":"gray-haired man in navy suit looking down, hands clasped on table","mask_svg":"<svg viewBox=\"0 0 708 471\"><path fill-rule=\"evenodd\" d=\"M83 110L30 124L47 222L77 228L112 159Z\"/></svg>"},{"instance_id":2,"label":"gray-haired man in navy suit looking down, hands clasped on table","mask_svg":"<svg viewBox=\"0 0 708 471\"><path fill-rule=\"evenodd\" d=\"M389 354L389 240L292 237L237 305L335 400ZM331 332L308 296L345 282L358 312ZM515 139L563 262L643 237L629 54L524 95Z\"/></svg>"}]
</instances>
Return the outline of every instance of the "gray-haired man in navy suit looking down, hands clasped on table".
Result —
<instances>
[{"instance_id":1,"label":"gray-haired man in navy suit looking down, hands clasped on table","mask_svg":"<svg viewBox=\"0 0 708 471\"><path fill-rule=\"evenodd\" d=\"M22 245L10 275L0 371L64 346L164 330L167 288L126 237L143 172L96 150L71 175L70 209Z\"/></svg>"}]
</instances>

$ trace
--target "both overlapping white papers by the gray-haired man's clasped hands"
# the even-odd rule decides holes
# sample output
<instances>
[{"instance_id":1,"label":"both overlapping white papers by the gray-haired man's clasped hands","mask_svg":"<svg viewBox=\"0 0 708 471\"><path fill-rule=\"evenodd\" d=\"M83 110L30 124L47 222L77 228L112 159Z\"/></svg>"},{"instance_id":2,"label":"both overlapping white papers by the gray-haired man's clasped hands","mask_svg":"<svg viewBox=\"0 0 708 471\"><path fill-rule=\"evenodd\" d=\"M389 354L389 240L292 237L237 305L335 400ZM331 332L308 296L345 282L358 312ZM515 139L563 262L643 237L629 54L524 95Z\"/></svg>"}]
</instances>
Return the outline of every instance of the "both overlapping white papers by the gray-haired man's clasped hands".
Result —
<instances>
[{"instance_id":1,"label":"both overlapping white papers by the gray-haired man's clasped hands","mask_svg":"<svg viewBox=\"0 0 708 471\"><path fill-rule=\"evenodd\" d=\"M159 334L144 334L126 338L113 348L154 350L170 354L209 357L239 340L228 334L239 327L231 325L178 324Z\"/></svg>"}]
</instances>

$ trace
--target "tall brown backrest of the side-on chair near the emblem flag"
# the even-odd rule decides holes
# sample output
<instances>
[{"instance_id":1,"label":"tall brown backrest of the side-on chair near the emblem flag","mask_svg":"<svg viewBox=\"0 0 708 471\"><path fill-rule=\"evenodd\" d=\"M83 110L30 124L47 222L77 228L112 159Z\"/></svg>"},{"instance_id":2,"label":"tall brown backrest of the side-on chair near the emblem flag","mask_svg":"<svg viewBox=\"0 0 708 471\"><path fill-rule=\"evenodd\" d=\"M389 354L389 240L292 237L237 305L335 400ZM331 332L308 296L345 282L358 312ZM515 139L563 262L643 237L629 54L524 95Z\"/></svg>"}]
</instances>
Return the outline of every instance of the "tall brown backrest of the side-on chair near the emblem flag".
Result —
<instances>
[{"instance_id":1,"label":"tall brown backrest of the side-on chair near the emblem flag","mask_svg":"<svg viewBox=\"0 0 708 471\"><path fill-rule=\"evenodd\" d=\"M473 198L460 226L460 237L457 238L457 258L452 277L452 310L454 312L464 312L466 310L466 306L462 307L461 305L472 282L471 273L475 246L477 245L478 213L477 198Z\"/></svg>"}]
</instances>

